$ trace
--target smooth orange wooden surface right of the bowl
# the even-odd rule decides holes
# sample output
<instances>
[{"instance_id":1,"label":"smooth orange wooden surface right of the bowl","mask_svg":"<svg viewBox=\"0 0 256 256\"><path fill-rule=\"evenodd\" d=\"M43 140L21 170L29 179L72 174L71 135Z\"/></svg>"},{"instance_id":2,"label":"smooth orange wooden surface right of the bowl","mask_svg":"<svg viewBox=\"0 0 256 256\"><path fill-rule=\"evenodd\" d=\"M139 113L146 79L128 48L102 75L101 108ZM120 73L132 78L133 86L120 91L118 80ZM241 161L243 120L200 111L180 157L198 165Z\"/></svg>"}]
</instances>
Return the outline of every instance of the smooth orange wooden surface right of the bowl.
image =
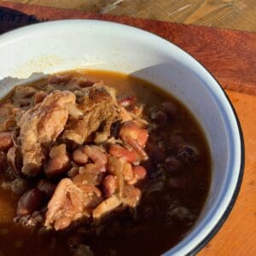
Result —
<instances>
[{"instance_id":1,"label":"smooth orange wooden surface right of the bowl","mask_svg":"<svg viewBox=\"0 0 256 256\"><path fill-rule=\"evenodd\" d=\"M226 91L241 122L246 162L241 190L236 205L200 256L255 256L256 255L256 96Z\"/></svg>"}]
</instances>

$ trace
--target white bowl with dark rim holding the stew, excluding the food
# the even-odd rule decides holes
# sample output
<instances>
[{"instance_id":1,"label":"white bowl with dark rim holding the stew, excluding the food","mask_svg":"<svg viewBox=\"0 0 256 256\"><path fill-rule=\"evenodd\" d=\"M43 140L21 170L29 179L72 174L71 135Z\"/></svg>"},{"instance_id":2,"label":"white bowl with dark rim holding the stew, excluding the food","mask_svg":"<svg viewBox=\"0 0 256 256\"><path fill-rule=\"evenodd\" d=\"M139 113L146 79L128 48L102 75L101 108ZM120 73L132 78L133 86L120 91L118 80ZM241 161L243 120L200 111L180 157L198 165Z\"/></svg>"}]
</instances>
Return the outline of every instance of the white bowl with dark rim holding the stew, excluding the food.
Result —
<instances>
[{"instance_id":1,"label":"white bowl with dark rim holding the stew, excluding the food","mask_svg":"<svg viewBox=\"0 0 256 256\"><path fill-rule=\"evenodd\" d=\"M212 184L194 228L165 255L196 253L223 224L241 183L241 129L224 90L193 57L176 45L131 26L61 20L3 34L0 60L0 96L28 77L37 79L44 73L74 68L129 73L170 91L195 114L207 135L212 153Z\"/></svg>"}]
</instances>

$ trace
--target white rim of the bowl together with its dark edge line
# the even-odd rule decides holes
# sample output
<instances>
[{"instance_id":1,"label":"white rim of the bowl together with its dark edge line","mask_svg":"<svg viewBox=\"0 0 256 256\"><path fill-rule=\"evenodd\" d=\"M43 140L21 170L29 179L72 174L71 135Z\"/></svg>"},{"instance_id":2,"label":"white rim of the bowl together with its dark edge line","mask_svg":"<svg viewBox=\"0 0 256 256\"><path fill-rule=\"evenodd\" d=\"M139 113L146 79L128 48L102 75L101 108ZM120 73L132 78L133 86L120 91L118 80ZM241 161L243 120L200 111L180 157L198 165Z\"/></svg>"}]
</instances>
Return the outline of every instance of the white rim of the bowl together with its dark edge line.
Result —
<instances>
[{"instance_id":1,"label":"white rim of the bowl together with its dark edge line","mask_svg":"<svg viewBox=\"0 0 256 256\"><path fill-rule=\"evenodd\" d=\"M220 217L218 217L218 222L212 227L212 230L207 231L207 235L204 236L203 239L199 243L195 244L195 246L192 247L189 250L189 252L185 254L185 255L195 255L195 253L198 253L201 250L202 247L205 247L207 245L207 243L212 239L212 237L217 234L218 230L220 230L220 228L224 224L225 220L229 217L230 212L231 212L232 208L235 205L237 196L238 196L239 191L241 189L241 182L242 182L242 177L243 177L243 174L244 174L244 166L245 166L245 145L244 145L244 139L243 139L243 134L242 134L242 130L241 130L241 123L238 119L236 110L235 110L232 102L230 101L229 96L224 91L224 88L218 83L218 80L212 75L212 73L207 69L207 67L205 67L203 64L201 64L200 61L197 61L197 59L193 55L190 55L187 51L185 51L184 49L177 46L177 44L172 43L172 41L169 41L166 38L161 38L160 36L158 36L158 35L156 35L152 32L148 32L146 30L143 30L142 28L137 28L135 26L129 26L129 25L125 25L125 24L122 24L122 23L114 22L114 21L94 20L94 19L84 19L84 20L83 19L67 19L67 20L43 21L43 22L39 22L39 23L36 23L36 24L32 24L32 25L28 25L28 26L22 26L20 28L15 28L14 30L9 31L9 32L4 32L3 34L0 35L0 47L1 47L2 43L3 44L8 43L9 40L13 40L15 38L15 36L22 35L22 32L26 32L27 29L32 29L33 30L34 28L40 28L41 26L44 27L44 26L47 26L48 24L75 23L75 22L81 22L81 21L84 22L84 26L85 26L85 23L88 23L88 22L90 22L90 24L91 23L96 23L96 24L102 23L102 24L106 24L106 25L110 25L110 26L123 26L126 29L127 28L128 29L133 29L135 32L145 33L145 34L148 34L151 37L155 38L156 40L162 40L162 41L166 41L167 44L172 44L172 46L175 46L183 55L188 55L190 58L192 58L196 62L196 64L198 66L200 66L202 68L202 70L204 70L205 73L208 73L210 75L211 79L213 79L215 81L215 84L218 85L218 89L220 89L220 91L222 92L222 94L224 96L224 99L226 100L226 103L228 104L228 106L231 109L231 112L234 115L235 125L238 129L239 143L241 145L241 147L239 148L240 153L241 153L241 155L240 155L241 161L240 161L238 176L237 176L237 179L236 179L236 184L233 185L234 189L233 189L232 195L230 197L230 201L225 206L226 208L225 208L223 214ZM176 246L174 246L174 247L176 247ZM171 253L170 250L172 250L172 248L168 249L168 251L166 251L164 253L164 255L172 255L172 254L170 254Z\"/></svg>"}]
</instances>

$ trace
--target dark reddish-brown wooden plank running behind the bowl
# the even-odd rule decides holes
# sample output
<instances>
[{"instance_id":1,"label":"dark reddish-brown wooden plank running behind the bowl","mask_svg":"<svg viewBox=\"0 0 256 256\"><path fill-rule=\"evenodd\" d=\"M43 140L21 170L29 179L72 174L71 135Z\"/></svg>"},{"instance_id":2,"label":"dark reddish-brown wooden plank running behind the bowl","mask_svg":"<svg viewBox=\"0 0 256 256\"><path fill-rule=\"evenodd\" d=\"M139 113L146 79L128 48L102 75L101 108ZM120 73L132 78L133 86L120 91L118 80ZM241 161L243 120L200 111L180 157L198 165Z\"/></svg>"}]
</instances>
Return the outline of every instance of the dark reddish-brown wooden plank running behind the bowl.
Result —
<instances>
[{"instance_id":1,"label":"dark reddish-brown wooden plank running behind the bowl","mask_svg":"<svg viewBox=\"0 0 256 256\"><path fill-rule=\"evenodd\" d=\"M9 8L2 7L0 10L0 20L7 29L42 20L75 18L110 20L137 26L188 51L207 67L224 88L256 95L256 34L3 1L0 4ZM20 14L20 20L14 18L12 9Z\"/></svg>"}]
</instances>

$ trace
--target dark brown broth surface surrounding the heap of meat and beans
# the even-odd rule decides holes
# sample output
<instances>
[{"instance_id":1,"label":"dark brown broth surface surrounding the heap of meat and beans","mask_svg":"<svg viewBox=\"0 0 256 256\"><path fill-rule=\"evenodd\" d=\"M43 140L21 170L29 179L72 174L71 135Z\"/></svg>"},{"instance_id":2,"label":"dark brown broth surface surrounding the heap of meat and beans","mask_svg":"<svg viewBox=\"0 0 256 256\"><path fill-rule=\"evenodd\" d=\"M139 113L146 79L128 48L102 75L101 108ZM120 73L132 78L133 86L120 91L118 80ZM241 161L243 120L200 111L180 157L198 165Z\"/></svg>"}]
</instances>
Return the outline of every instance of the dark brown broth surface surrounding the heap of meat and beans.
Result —
<instances>
[{"instance_id":1,"label":"dark brown broth surface surrounding the heap of meat and beans","mask_svg":"<svg viewBox=\"0 0 256 256\"><path fill-rule=\"evenodd\" d=\"M157 171L162 167L162 160L153 159L154 153L151 152L152 180L150 184L141 184L143 198L136 211L112 214L98 227L82 224L78 228L58 233L42 234L38 230L29 230L14 224L18 197L0 188L0 255L72 255L67 246L68 237L69 241L72 240L70 236L81 236L82 241L90 246L95 255L159 255L166 252L193 227L207 199L211 182L211 159L200 125L181 102L142 79L105 71L77 71L69 74L85 74L94 82L104 81L104 84L116 88L118 95L135 95L137 102L145 104L147 110L152 105L173 102L177 106L178 114L174 119L168 120L157 135L161 136L160 141L165 144L168 144L173 133L182 135L187 143L199 148L200 159L194 164L184 165L181 173L170 174L165 171L163 178L162 173ZM46 79L31 85L42 88L44 84ZM4 97L3 101L9 96ZM172 150L168 154L172 154ZM183 188L176 189L168 185L173 178L183 180ZM151 194L148 192L157 190L160 185L163 185L160 191ZM193 218L188 220L185 216L184 221L173 216L167 218L168 208L177 206L179 210L183 210L182 207L189 209L189 216Z\"/></svg>"}]
</instances>

